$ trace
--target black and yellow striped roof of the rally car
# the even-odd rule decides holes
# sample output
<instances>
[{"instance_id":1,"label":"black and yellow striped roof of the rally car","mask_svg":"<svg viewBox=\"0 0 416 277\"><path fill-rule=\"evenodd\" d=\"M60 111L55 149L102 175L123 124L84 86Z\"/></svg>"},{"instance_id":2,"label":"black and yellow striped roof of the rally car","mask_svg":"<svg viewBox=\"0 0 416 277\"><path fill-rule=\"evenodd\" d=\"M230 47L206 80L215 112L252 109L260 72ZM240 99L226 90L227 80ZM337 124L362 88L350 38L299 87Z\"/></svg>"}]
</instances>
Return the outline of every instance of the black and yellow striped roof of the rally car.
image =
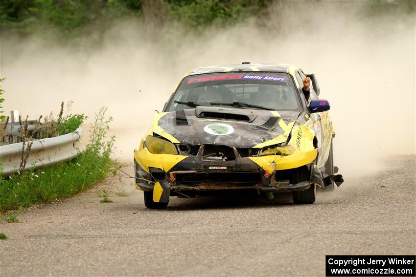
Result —
<instances>
[{"instance_id":1,"label":"black and yellow striped roof of the rally car","mask_svg":"<svg viewBox=\"0 0 416 277\"><path fill-rule=\"evenodd\" d=\"M203 66L194 68L189 75L216 73L216 72L283 72L288 73L291 64L252 64L243 62L241 64L224 64L214 66Z\"/></svg>"}]
</instances>

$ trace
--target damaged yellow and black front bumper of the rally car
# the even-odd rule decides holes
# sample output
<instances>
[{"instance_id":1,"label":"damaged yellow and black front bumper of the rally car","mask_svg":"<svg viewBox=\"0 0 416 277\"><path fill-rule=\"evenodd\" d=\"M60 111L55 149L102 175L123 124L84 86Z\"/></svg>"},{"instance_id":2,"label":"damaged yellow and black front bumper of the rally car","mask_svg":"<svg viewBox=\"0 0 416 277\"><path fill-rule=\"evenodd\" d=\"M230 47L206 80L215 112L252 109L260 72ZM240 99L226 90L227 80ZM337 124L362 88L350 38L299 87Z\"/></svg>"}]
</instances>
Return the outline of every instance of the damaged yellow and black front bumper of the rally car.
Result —
<instances>
[{"instance_id":1,"label":"damaged yellow and black front bumper of the rally car","mask_svg":"<svg viewBox=\"0 0 416 277\"><path fill-rule=\"evenodd\" d=\"M230 160L213 160L209 151L228 152ZM153 191L155 202L169 202L169 196L204 192L245 190L294 192L306 190L313 178L318 149L303 152L292 148L290 155L258 155L260 149L236 149L203 145L194 155L154 154L147 148L135 150L136 187ZM253 155L254 152L254 155ZM309 181L290 184L291 170L302 168Z\"/></svg>"}]
</instances>

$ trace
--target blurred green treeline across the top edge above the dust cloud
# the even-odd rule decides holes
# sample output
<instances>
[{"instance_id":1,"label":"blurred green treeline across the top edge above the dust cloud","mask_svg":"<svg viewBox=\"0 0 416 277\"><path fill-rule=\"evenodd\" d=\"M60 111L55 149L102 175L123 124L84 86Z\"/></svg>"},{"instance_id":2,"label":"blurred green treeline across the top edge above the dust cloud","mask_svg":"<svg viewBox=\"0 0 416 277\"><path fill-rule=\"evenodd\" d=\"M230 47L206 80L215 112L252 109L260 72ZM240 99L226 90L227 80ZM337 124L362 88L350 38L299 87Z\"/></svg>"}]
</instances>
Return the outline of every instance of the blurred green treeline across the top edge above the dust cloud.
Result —
<instances>
[{"instance_id":1,"label":"blurred green treeline across the top edge above the dust cloud","mask_svg":"<svg viewBox=\"0 0 416 277\"><path fill-rule=\"evenodd\" d=\"M179 23L186 31L207 27L228 27L237 22L255 19L259 24L269 20L270 12L279 7L304 5L284 0L2 0L0 30L27 35L50 35L73 39L92 33L103 33L117 21L143 21L147 26L161 28ZM320 3L320 0L311 1ZM348 3L340 2L340 8ZM273 10L272 6L277 9ZM364 17L395 10L415 11L415 1L368 1ZM299 8L299 7L298 7ZM98 36L99 37L99 36Z\"/></svg>"}]
</instances>

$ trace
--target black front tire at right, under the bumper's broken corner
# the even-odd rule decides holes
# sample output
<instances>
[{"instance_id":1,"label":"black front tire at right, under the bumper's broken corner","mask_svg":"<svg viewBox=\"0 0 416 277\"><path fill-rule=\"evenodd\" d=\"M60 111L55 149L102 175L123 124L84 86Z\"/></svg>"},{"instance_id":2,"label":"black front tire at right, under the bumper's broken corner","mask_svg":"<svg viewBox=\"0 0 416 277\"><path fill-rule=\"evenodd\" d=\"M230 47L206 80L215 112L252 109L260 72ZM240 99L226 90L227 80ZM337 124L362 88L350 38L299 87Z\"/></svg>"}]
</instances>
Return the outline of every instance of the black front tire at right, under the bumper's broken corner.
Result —
<instances>
[{"instance_id":1,"label":"black front tire at right, under the bumper's broken corner","mask_svg":"<svg viewBox=\"0 0 416 277\"><path fill-rule=\"evenodd\" d=\"M292 173L293 184L298 184L303 181L309 181L310 171L306 166L296 169ZM295 204L313 204L316 199L316 187L315 184L303 191L292 193L293 203Z\"/></svg>"}]
</instances>

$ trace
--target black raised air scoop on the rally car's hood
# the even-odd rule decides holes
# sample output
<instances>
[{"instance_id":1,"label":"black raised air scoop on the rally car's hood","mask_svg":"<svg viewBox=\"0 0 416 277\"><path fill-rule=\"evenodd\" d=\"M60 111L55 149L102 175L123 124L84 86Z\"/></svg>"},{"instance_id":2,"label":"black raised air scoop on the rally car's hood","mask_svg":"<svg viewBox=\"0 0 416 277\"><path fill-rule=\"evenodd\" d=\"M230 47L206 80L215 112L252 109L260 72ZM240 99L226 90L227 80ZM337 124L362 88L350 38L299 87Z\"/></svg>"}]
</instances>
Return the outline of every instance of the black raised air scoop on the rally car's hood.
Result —
<instances>
[{"instance_id":1,"label":"black raised air scoop on the rally car's hood","mask_svg":"<svg viewBox=\"0 0 416 277\"><path fill-rule=\"evenodd\" d=\"M195 114L199 118L217 118L252 122L257 117L253 110L222 108L222 107L204 107L195 108Z\"/></svg>"}]
</instances>

